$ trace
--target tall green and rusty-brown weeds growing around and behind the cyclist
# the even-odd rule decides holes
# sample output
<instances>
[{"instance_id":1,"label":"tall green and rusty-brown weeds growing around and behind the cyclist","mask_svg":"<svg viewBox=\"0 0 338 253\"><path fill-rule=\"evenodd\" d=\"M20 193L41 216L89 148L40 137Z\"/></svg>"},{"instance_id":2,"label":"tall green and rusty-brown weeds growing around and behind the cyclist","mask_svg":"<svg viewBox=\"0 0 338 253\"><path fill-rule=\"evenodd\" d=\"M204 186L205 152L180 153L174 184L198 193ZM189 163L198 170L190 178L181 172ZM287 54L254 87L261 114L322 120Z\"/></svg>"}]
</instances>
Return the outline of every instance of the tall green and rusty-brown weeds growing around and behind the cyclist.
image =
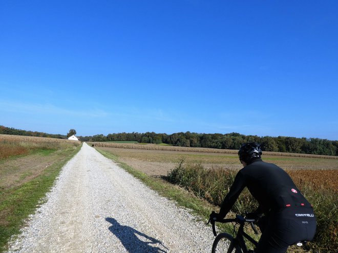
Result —
<instances>
[{"instance_id":1,"label":"tall green and rusty-brown weeds growing around and behind the cyclist","mask_svg":"<svg viewBox=\"0 0 338 253\"><path fill-rule=\"evenodd\" d=\"M236 174L235 170L208 170L203 168L201 164L185 164L184 160L181 160L175 169L168 173L167 180L214 205L220 206L233 184ZM337 173L335 170L307 170L306 173L302 170L294 170L290 175L303 195L313 205L317 218L316 235L313 242L306 245L307 250L337 252L338 213L336 207L338 194L332 183L332 181L336 182ZM256 200L247 189L244 189L231 211L242 214L256 208ZM300 252L299 250L290 247L288 252Z\"/></svg>"}]
</instances>

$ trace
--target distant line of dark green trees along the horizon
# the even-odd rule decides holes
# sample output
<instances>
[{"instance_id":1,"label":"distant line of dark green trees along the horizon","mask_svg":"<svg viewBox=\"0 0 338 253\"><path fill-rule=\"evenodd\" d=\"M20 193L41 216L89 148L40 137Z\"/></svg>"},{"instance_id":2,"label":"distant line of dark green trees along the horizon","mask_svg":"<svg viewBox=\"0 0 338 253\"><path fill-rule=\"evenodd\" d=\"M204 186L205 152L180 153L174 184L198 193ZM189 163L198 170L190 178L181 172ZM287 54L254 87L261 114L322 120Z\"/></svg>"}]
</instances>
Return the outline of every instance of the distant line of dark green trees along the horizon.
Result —
<instances>
[{"instance_id":1,"label":"distant line of dark green trees along the horizon","mask_svg":"<svg viewBox=\"0 0 338 253\"><path fill-rule=\"evenodd\" d=\"M72 130L72 129L71 129ZM66 137L61 134L48 134L32 132L0 126L0 134L15 134L26 136L39 136L59 138ZM240 133L194 133L179 132L166 133L110 133L107 136L97 134L94 136L78 136L83 142L107 142L107 141L134 141L139 143L165 143L181 147L218 148L218 149L239 149L242 143L258 142L262 144L263 151L305 153L320 155L338 155L338 141L330 141L319 138L296 138L286 136L257 136L244 135Z\"/></svg>"}]
</instances>

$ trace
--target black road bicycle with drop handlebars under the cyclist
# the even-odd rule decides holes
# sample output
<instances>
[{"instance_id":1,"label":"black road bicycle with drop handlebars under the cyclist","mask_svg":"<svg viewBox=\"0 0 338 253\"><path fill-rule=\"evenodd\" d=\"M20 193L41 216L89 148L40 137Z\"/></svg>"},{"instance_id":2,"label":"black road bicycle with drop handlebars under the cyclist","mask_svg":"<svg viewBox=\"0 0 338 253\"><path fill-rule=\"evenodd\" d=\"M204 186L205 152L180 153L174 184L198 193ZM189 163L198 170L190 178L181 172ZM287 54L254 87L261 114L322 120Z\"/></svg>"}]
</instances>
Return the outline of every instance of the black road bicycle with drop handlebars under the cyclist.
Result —
<instances>
[{"instance_id":1,"label":"black road bicycle with drop handlebars under the cyclist","mask_svg":"<svg viewBox=\"0 0 338 253\"><path fill-rule=\"evenodd\" d=\"M213 212L215 213L215 212ZM245 233L244 231L244 225L245 223L249 223L252 227L252 229L254 230L255 234L258 235L258 231L254 225L254 222L256 220L255 219L248 219L245 218L245 216L242 215L236 215L236 218L233 219L222 219L222 220L218 220L217 222L220 223L232 223L235 222L234 224L234 233L236 234L236 237L231 236L230 234L227 233L220 233L217 235L216 232L216 226L215 220L211 220L209 219L208 223L212 223L213 226L213 233L216 236L214 243L213 243L213 248L212 248L212 253L250 253L250 252L255 252L252 249L248 249L245 243L244 238L246 238L249 242L251 242L252 244L255 245L255 247L257 246L258 242L252 238L251 236L249 236L247 233ZM236 225L239 224L239 228L236 232ZM298 242L296 243L297 246L302 246L303 244L305 244L306 241L302 241L302 242Z\"/></svg>"}]
</instances>

